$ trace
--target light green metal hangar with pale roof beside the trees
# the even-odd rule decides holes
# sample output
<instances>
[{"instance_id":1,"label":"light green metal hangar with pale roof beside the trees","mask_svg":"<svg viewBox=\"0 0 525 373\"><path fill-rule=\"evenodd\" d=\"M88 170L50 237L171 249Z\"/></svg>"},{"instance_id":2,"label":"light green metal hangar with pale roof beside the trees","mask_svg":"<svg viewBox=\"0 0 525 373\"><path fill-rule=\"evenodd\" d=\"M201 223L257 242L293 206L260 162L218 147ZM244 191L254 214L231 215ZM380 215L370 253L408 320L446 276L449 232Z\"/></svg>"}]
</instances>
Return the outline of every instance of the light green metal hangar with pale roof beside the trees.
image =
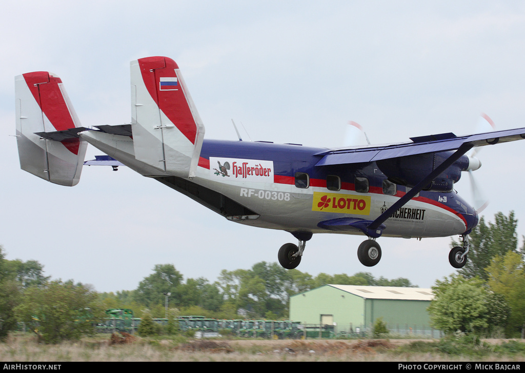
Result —
<instances>
[{"instance_id":1,"label":"light green metal hangar with pale roof beside the trees","mask_svg":"<svg viewBox=\"0 0 525 373\"><path fill-rule=\"evenodd\" d=\"M439 336L430 328L432 289L393 286L324 285L290 297L290 319L334 325L335 333L369 331L382 317L391 332Z\"/></svg>"}]
</instances>

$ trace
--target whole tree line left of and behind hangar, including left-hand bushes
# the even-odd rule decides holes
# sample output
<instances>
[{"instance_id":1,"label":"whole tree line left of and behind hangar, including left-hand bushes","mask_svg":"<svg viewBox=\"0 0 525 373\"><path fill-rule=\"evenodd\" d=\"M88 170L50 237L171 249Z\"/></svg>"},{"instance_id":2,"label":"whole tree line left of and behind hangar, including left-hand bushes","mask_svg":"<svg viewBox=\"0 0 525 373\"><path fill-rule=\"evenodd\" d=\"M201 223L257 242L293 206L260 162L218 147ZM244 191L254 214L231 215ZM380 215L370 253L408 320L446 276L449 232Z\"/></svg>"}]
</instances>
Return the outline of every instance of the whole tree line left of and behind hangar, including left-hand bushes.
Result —
<instances>
[{"instance_id":1,"label":"whole tree line left of and behind hangar, including left-hand bushes","mask_svg":"<svg viewBox=\"0 0 525 373\"><path fill-rule=\"evenodd\" d=\"M0 340L17 323L34 324L35 319L46 343L78 339L93 331L92 320L108 308L131 308L141 318L165 317L169 308L171 316L287 319L291 295L325 284L415 286L402 277L374 278L367 272L312 276L267 262L249 270L223 270L213 283L203 277L184 281L173 264L157 264L136 289L98 293L90 285L45 276L37 261L7 260L0 246Z\"/></svg>"}]
</instances>

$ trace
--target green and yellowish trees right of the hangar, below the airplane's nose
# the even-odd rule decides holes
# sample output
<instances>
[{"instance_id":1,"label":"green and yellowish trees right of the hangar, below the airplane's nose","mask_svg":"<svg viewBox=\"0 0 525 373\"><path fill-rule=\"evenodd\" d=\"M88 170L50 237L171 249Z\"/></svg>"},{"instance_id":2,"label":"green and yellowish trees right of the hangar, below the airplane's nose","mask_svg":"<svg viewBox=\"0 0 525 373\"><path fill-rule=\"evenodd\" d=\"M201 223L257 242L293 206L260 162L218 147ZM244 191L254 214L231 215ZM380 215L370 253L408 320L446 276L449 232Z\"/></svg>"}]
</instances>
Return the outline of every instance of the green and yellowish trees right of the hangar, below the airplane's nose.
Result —
<instances>
[{"instance_id":1,"label":"green and yellowish trees right of the hangar, below the airplane's nose","mask_svg":"<svg viewBox=\"0 0 525 373\"><path fill-rule=\"evenodd\" d=\"M481 217L469 235L465 266L432 287L428 311L434 328L525 337L525 247L518 248L517 224L512 211L496 213L494 222Z\"/></svg>"}]
</instances>

